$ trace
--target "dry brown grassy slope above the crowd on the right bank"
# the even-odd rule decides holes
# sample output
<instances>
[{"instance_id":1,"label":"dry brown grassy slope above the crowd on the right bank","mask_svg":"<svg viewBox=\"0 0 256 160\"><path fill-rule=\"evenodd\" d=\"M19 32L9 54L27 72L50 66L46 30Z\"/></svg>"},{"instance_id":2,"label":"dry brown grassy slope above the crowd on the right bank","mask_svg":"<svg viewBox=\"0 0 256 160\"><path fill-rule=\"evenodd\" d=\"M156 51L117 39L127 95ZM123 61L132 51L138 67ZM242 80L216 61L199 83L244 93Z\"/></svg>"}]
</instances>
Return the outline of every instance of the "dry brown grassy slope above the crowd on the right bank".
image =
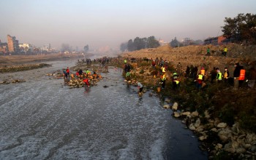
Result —
<instances>
[{"instance_id":1,"label":"dry brown grassy slope above the crowd on the right bank","mask_svg":"<svg viewBox=\"0 0 256 160\"><path fill-rule=\"evenodd\" d=\"M206 49L210 48L211 56L206 56ZM240 44L227 44L227 57L222 56L222 49L224 46L187 46L172 48L168 45L158 47L155 49L141 49L135 52L125 52L123 57L147 57L160 58L167 60L174 66L181 63L185 68L187 65L194 65L197 67L204 66L206 68L213 67L230 67L235 63L241 63L245 67L256 62L256 46L244 46Z\"/></svg>"}]
</instances>

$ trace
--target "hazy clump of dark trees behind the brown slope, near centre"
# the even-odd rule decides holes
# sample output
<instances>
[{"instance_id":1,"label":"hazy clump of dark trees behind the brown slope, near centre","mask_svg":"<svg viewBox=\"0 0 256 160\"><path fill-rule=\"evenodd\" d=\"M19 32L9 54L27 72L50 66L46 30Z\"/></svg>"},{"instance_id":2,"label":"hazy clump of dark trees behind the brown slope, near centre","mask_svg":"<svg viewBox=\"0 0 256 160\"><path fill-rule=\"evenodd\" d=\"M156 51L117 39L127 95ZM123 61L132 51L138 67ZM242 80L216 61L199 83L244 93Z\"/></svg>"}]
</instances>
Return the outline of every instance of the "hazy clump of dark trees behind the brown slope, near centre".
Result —
<instances>
[{"instance_id":1,"label":"hazy clump of dark trees behind the brown slope, near centre","mask_svg":"<svg viewBox=\"0 0 256 160\"><path fill-rule=\"evenodd\" d=\"M159 41L157 41L154 36L150 36L148 38L139 38L136 37L133 41L130 39L129 41L122 43L120 45L120 50L124 52L125 50L128 51L135 51L140 49L146 48L157 48L159 47Z\"/></svg>"}]
</instances>

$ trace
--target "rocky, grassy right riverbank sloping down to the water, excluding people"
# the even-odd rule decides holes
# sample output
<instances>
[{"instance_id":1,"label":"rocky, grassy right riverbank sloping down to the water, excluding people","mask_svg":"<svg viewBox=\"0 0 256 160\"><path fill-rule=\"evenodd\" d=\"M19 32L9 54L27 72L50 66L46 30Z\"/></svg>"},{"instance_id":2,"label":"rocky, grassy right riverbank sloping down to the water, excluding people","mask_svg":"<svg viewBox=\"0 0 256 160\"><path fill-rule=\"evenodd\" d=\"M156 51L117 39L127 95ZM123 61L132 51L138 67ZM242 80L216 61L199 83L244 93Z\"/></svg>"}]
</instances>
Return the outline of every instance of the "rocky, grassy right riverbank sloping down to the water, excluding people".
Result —
<instances>
[{"instance_id":1,"label":"rocky, grassy right riverbank sloping down to the water, excluding people","mask_svg":"<svg viewBox=\"0 0 256 160\"><path fill-rule=\"evenodd\" d=\"M166 85L159 94L168 101L176 102L176 105L165 105L165 108L173 109L173 116L181 119L195 132L202 144L200 148L208 151L209 159L255 159L255 88L249 89L244 83L241 89L236 90L224 83L211 84L210 79L210 72L214 67L219 68L222 73L227 67L232 77L235 63L240 63L246 69L255 65L255 56L252 56L255 46L230 44L228 47L230 55L227 57L221 55L222 47L211 47L216 54L207 57L204 54L206 46L175 49L166 46L127 52L122 60L127 59L131 65L132 79L150 86L155 92L160 87L161 69L159 66L152 68L151 59L158 57L166 60ZM132 57L136 59L135 62L132 62ZM173 90L171 79L178 62L183 65L182 73L186 66L197 66L199 71L201 67L206 68L206 86L198 91L195 79L183 75L179 76L180 89Z\"/></svg>"}]
</instances>

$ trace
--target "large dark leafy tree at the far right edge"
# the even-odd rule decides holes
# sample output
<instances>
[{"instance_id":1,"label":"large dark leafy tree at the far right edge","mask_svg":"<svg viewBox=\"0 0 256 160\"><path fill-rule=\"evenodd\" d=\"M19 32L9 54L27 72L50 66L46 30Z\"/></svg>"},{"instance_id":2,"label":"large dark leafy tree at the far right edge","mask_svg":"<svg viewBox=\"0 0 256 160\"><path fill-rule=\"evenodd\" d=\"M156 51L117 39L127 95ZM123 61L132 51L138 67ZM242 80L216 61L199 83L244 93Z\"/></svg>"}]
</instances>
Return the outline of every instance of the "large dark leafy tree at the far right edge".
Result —
<instances>
[{"instance_id":1,"label":"large dark leafy tree at the far right edge","mask_svg":"<svg viewBox=\"0 0 256 160\"><path fill-rule=\"evenodd\" d=\"M256 15L240 13L234 18L225 17L224 22L222 32L227 39L256 43Z\"/></svg>"}]
</instances>

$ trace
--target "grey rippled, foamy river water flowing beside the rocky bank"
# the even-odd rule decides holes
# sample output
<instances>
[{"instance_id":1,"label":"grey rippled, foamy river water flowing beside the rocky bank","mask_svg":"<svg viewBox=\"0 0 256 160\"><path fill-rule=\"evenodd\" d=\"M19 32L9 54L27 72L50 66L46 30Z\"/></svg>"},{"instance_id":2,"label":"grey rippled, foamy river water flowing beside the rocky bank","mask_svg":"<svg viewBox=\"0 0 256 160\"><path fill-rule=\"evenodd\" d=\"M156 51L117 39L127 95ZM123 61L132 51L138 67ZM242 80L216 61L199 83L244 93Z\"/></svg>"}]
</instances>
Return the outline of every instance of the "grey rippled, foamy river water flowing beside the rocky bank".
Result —
<instances>
[{"instance_id":1,"label":"grey rippled, foamy river water flowing beside the rocky bank","mask_svg":"<svg viewBox=\"0 0 256 160\"><path fill-rule=\"evenodd\" d=\"M121 69L109 68L97 86L69 89L45 74L75 62L48 63L1 74L26 82L0 85L0 159L207 159L162 98L139 98Z\"/></svg>"}]
</instances>

